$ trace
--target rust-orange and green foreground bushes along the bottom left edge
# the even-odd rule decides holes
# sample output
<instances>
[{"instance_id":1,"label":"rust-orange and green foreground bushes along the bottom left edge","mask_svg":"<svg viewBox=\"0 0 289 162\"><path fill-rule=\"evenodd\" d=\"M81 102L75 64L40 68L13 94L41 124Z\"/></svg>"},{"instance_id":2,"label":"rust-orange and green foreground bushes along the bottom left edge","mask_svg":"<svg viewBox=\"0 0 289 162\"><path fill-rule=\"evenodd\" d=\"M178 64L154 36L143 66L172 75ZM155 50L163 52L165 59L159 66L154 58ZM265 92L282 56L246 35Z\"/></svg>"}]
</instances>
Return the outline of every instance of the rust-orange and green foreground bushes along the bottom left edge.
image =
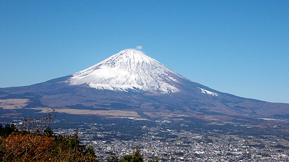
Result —
<instances>
[{"instance_id":1,"label":"rust-orange and green foreground bushes along the bottom left edge","mask_svg":"<svg viewBox=\"0 0 289 162\"><path fill-rule=\"evenodd\" d=\"M23 119L21 126L0 124L1 162L97 162L94 149L81 145L78 132L54 135L49 127L51 113L44 118ZM133 155L118 158L112 154L107 162L144 162L138 148ZM158 162L158 159L148 162Z\"/></svg>"}]
</instances>

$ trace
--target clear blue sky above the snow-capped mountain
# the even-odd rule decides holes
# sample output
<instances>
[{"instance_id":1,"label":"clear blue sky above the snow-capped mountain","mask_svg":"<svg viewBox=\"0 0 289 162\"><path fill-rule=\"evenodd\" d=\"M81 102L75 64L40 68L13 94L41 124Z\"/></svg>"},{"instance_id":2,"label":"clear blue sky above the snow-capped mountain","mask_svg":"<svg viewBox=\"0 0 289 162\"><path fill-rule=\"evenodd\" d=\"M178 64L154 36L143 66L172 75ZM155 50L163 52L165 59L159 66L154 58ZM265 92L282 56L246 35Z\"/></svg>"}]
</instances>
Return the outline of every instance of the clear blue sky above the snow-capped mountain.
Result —
<instances>
[{"instance_id":1,"label":"clear blue sky above the snow-capped mountain","mask_svg":"<svg viewBox=\"0 0 289 162\"><path fill-rule=\"evenodd\" d=\"M192 81L289 103L288 8L289 0L0 0L0 87L143 46Z\"/></svg>"}]
</instances>

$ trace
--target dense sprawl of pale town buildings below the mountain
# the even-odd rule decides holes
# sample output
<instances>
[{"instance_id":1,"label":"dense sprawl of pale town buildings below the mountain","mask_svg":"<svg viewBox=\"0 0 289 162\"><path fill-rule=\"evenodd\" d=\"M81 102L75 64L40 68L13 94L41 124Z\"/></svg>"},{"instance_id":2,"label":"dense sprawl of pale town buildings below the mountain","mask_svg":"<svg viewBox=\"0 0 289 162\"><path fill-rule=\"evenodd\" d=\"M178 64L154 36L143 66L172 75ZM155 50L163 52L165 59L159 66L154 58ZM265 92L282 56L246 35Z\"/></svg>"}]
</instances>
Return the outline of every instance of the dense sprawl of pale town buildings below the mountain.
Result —
<instances>
[{"instance_id":1,"label":"dense sprawl of pale town buildings below the mountain","mask_svg":"<svg viewBox=\"0 0 289 162\"><path fill-rule=\"evenodd\" d=\"M170 123L168 120L156 121ZM56 134L79 132L83 143L93 146L98 159L115 153L119 157L133 154L135 147L147 159L158 157L165 162L287 162L289 143L276 136L224 135L217 130L206 133L146 127L140 136L116 131L99 131L98 124L85 128L56 129ZM81 125L83 126L83 125ZM103 125L101 125L103 126ZM125 128L124 128L125 129ZM118 137L130 137L121 140Z\"/></svg>"}]
</instances>

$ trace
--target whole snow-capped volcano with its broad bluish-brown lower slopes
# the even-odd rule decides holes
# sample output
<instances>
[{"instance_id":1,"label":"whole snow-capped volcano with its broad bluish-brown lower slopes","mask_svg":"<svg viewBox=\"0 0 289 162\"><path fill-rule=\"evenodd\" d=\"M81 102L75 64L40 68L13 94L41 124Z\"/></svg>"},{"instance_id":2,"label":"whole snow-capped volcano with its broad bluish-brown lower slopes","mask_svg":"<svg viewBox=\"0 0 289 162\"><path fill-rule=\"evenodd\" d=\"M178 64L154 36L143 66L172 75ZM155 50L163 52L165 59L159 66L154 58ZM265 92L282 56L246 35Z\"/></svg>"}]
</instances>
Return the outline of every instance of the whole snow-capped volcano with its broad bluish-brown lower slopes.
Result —
<instances>
[{"instance_id":1,"label":"whole snow-capped volcano with its broad bluish-brown lower slopes","mask_svg":"<svg viewBox=\"0 0 289 162\"><path fill-rule=\"evenodd\" d=\"M194 117L216 121L289 116L289 104L211 89L180 76L135 49L123 50L66 77L0 88L0 108L2 115L53 108L59 113L114 118Z\"/></svg>"}]
</instances>

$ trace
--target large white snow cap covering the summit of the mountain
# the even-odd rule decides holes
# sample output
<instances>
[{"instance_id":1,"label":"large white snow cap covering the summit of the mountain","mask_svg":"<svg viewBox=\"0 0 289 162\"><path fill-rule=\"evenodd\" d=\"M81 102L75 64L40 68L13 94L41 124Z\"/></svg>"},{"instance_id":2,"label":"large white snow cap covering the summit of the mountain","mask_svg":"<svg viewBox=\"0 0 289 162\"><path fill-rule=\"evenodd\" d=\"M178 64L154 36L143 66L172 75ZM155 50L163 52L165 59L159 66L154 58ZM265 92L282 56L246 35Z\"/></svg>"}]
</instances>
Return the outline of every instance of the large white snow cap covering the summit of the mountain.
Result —
<instances>
[{"instance_id":1,"label":"large white snow cap covering the summit of the mountain","mask_svg":"<svg viewBox=\"0 0 289 162\"><path fill-rule=\"evenodd\" d=\"M173 93L177 78L183 78L142 51L126 49L78 73L70 85L87 84L97 89L114 91L155 91Z\"/></svg>"}]
</instances>

